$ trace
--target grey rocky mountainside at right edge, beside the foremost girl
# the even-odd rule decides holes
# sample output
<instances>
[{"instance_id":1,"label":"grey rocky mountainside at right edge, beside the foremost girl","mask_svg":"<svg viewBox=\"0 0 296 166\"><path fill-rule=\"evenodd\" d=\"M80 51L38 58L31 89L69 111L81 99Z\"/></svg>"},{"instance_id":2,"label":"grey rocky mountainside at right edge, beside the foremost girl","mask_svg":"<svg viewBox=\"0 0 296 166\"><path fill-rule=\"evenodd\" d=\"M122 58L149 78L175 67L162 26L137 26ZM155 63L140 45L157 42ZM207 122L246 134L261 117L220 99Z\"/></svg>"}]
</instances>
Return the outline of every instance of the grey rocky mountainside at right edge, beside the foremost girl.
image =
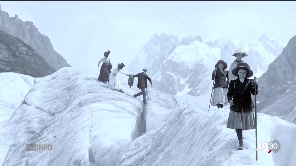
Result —
<instances>
[{"instance_id":1,"label":"grey rocky mountainside at right edge, beside the foremost girl","mask_svg":"<svg viewBox=\"0 0 296 166\"><path fill-rule=\"evenodd\" d=\"M296 36L290 39L282 53L258 79L258 109L262 113L289 118L296 114ZM294 115L293 115L294 114Z\"/></svg>"}]
</instances>

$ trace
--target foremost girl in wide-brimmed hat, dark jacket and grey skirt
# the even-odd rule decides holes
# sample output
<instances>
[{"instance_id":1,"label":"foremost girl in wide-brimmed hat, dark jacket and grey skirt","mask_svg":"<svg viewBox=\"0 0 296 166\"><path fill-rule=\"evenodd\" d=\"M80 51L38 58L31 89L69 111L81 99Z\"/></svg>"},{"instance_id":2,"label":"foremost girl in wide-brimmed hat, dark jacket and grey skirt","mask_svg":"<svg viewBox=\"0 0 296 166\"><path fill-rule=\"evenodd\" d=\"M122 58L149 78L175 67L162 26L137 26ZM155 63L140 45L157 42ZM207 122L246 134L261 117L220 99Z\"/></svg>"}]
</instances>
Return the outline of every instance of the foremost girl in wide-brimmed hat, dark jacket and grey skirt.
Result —
<instances>
[{"instance_id":1,"label":"foremost girl in wide-brimmed hat, dark jacket and grey skirt","mask_svg":"<svg viewBox=\"0 0 296 166\"><path fill-rule=\"evenodd\" d=\"M229 83L227 99L230 104L230 112L226 127L235 129L240 144L238 150L242 150L244 148L242 130L255 129L251 93L255 95L254 82L257 83L257 78L247 79L247 77L253 76L253 71L244 62L238 63L231 72L237 79ZM258 84L256 92L257 95Z\"/></svg>"}]
</instances>

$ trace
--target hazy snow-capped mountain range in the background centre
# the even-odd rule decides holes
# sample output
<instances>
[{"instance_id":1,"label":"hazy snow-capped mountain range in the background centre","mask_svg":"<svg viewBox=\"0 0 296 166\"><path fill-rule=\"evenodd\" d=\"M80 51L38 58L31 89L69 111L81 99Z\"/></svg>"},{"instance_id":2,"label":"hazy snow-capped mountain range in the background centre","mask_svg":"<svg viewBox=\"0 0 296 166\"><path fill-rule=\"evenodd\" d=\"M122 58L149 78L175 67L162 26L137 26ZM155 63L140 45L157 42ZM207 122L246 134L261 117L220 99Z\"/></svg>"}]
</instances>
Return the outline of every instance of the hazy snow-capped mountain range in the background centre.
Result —
<instances>
[{"instance_id":1,"label":"hazy snow-capped mountain range in the background centre","mask_svg":"<svg viewBox=\"0 0 296 166\"><path fill-rule=\"evenodd\" d=\"M283 46L281 41L270 40L265 35L250 43L243 40L205 43L199 36L178 41L173 35L154 34L128 69L130 73L139 73L145 67L153 79L153 87L163 92L199 96L210 93L208 89L212 85L211 75L216 62L222 59L229 67L235 59L231 55L237 48L248 53L243 61L251 66L255 77L261 77Z\"/></svg>"}]
</instances>

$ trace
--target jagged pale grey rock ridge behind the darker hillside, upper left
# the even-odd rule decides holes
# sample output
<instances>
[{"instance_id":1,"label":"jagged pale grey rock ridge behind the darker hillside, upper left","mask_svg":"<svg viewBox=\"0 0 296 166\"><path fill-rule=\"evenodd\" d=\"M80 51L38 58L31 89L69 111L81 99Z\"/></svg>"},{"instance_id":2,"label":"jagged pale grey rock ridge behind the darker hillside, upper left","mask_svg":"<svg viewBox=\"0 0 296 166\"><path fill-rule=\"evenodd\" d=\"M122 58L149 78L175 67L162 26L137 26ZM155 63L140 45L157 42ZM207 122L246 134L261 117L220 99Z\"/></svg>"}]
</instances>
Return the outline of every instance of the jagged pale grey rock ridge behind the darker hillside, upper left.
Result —
<instances>
[{"instance_id":1,"label":"jagged pale grey rock ridge behind the darker hillside, upper left","mask_svg":"<svg viewBox=\"0 0 296 166\"><path fill-rule=\"evenodd\" d=\"M7 34L20 38L30 45L40 56L42 56L53 69L70 66L67 61L53 49L47 36L40 34L33 22L23 22L18 15L9 17L9 14L1 10L0 5L0 30ZM52 72L53 73L53 72Z\"/></svg>"}]
</instances>

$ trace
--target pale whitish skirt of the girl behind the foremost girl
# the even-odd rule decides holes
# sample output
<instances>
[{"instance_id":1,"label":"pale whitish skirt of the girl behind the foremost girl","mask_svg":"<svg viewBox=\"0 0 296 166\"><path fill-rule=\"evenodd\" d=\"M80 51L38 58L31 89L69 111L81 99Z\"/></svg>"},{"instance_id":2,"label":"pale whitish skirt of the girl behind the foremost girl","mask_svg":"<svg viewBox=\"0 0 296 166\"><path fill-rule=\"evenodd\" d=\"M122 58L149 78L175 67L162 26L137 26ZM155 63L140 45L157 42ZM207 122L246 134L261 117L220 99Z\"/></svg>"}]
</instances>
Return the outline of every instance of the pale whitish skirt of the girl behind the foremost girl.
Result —
<instances>
[{"instance_id":1,"label":"pale whitish skirt of the girl behind the foremost girl","mask_svg":"<svg viewBox=\"0 0 296 166\"><path fill-rule=\"evenodd\" d=\"M214 88L214 92L212 95L212 101L211 105L217 106L217 104L222 104L222 105L228 105L228 100L227 100L227 90L228 88Z\"/></svg>"}]
</instances>

